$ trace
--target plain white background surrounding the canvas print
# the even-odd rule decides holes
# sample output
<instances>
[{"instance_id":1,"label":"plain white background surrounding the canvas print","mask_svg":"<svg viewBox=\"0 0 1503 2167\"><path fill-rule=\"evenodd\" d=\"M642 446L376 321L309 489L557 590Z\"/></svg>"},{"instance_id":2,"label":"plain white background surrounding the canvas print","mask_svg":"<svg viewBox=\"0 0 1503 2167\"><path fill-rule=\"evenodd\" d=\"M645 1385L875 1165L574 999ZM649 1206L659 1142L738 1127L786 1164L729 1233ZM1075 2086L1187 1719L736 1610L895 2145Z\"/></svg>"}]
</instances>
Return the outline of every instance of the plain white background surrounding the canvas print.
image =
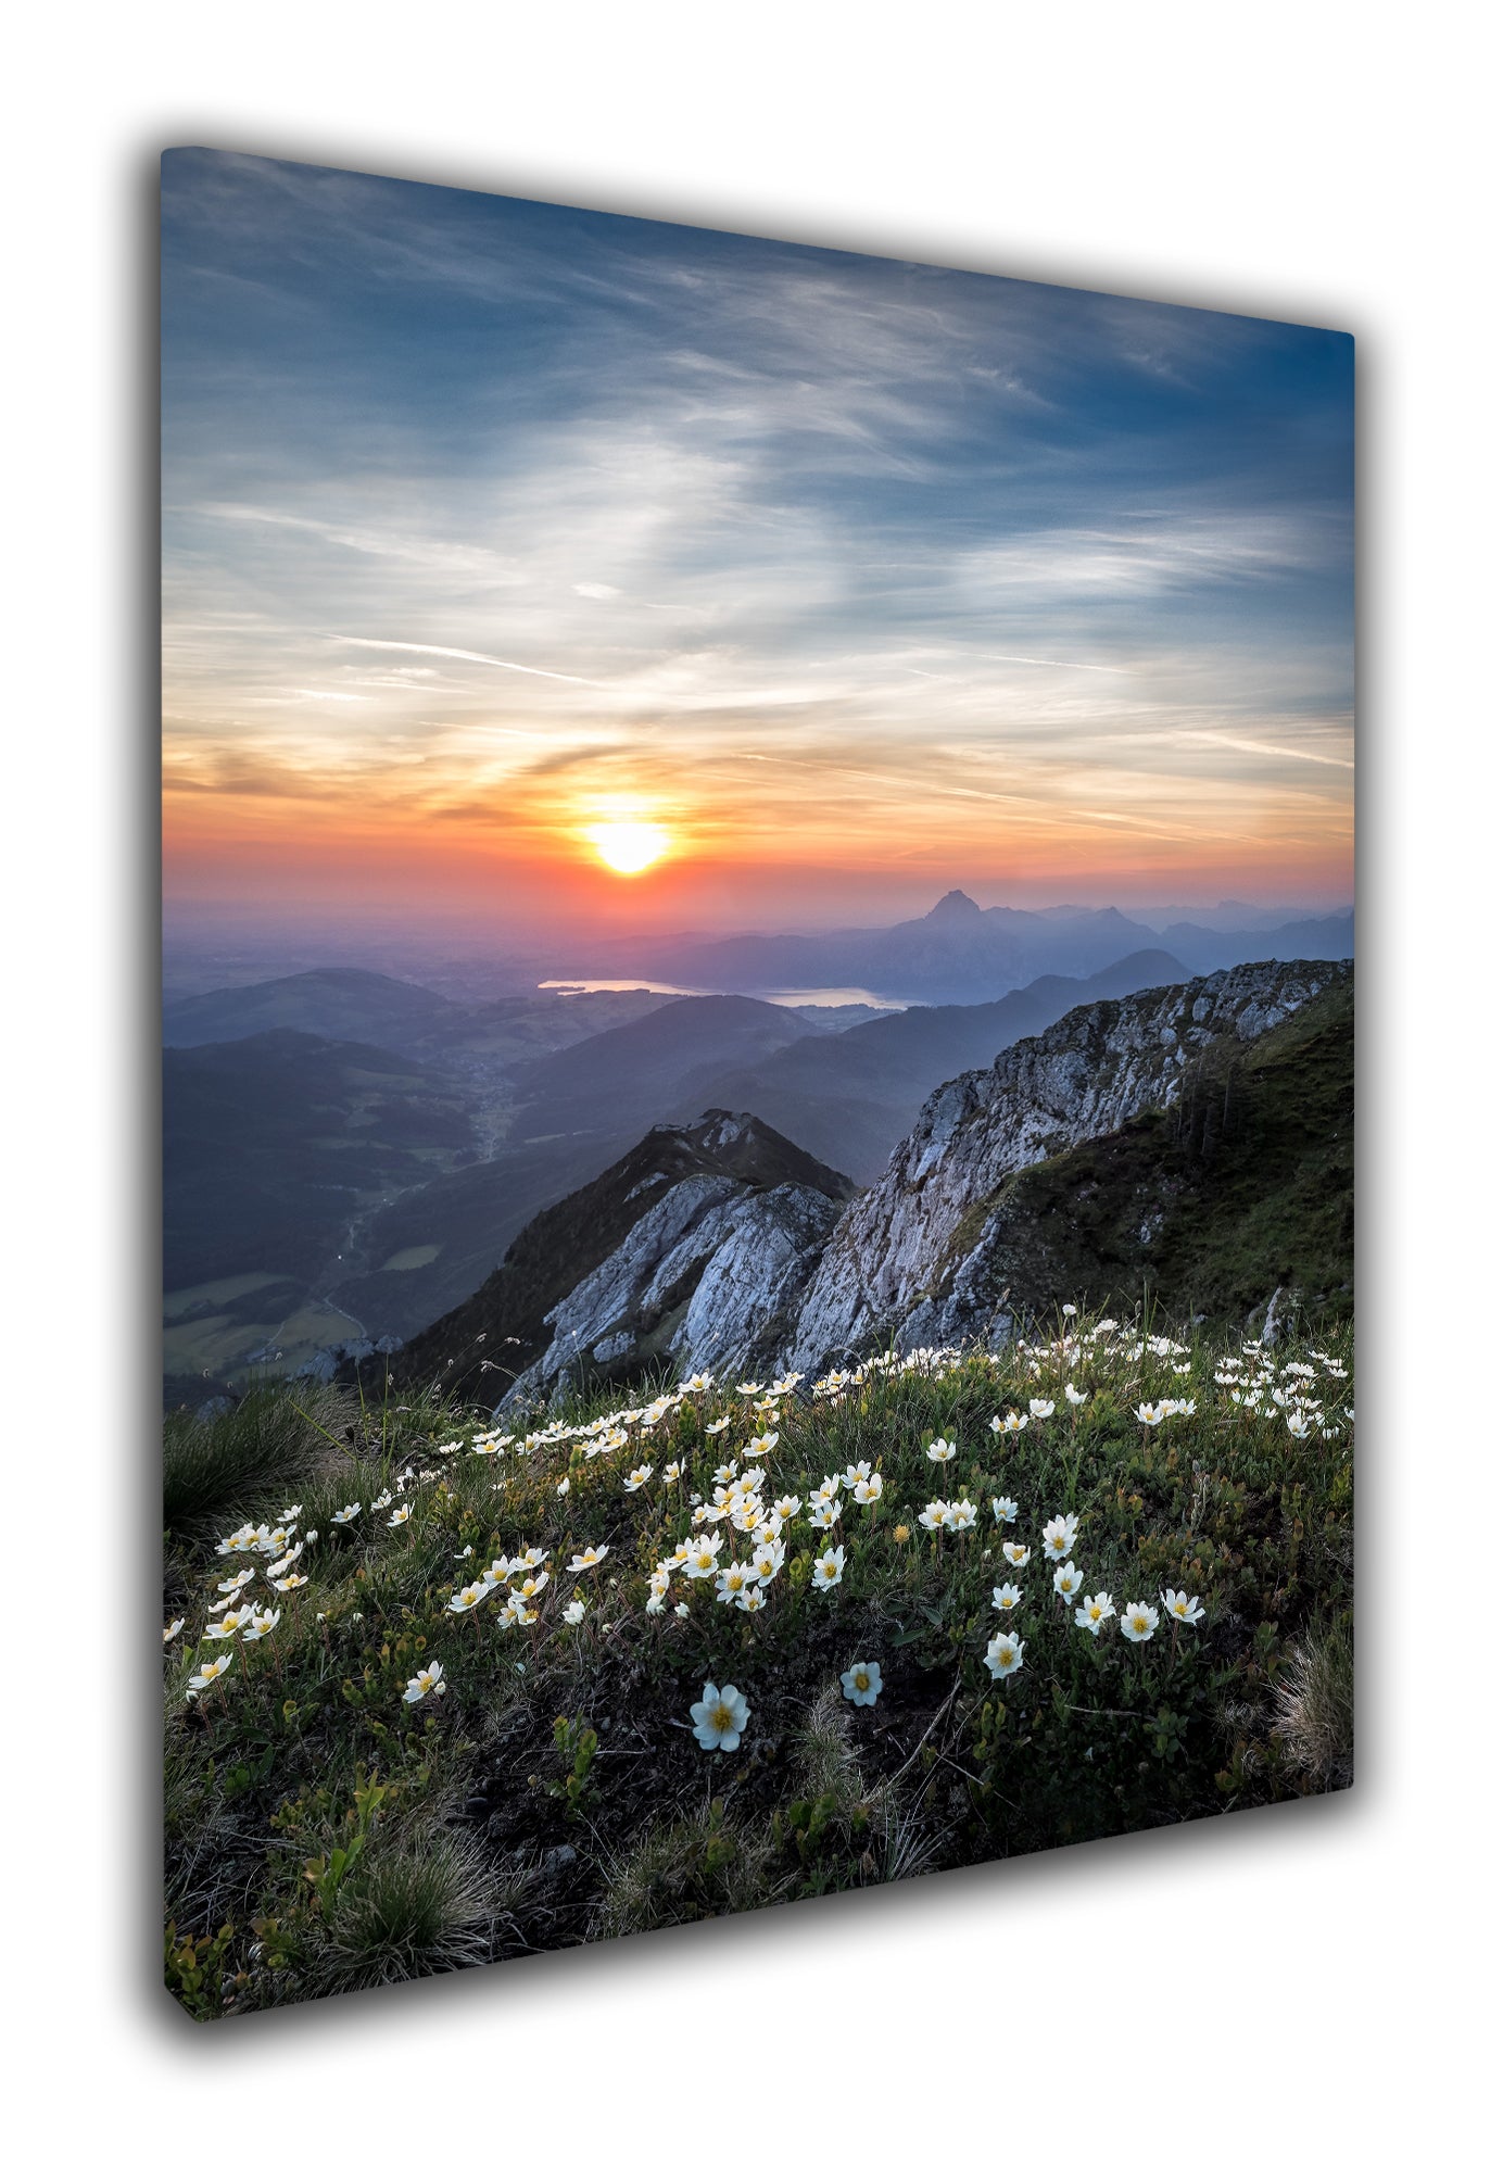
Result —
<instances>
[{"instance_id":1,"label":"plain white background surrounding the canvas print","mask_svg":"<svg viewBox=\"0 0 1503 2167\"><path fill-rule=\"evenodd\" d=\"M1494 2043L1473 1963L1497 1978L1488 20L1319 0L136 0L13 20L4 1727L22 1773L0 1981L17 2158L1455 2156ZM286 2017L195 2028L165 2002L134 1649L156 1623L139 1560L169 143L1356 334L1356 1794Z\"/></svg>"}]
</instances>

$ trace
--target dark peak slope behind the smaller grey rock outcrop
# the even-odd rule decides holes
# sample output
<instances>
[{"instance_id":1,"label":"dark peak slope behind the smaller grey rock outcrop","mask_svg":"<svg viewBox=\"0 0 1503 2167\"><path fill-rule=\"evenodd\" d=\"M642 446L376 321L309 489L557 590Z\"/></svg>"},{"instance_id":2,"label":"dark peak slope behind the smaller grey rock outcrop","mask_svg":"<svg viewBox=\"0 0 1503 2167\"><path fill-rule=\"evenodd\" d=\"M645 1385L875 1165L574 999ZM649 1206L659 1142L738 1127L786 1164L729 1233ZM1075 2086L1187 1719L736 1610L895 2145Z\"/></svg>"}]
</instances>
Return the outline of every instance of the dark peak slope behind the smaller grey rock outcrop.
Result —
<instances>
[{"instance_id":1,"label":"dark peak slope behind the smaller grey rock outcrop","mask_svg":"<svg viewBox=\"0 0 1503 2167\"><path fill-rule=\"evenodd\" d=\"M680 1194L682 1192L682 1194ZM790 1198L793 1192L793 1198ZM615 1166L589 1181L583 1190L561 1203L539 1211L511 1242L505 1261L485 1279L476 1294L440 1318L424 1333L418 1333L401 1352L394 1374L411 1383L442 1380L444 1387L485 1393L481 1378L500 1372L500 1385L544 1361L554 1331L546 1322L548 1313L589 1283L602 1266L630 1242L639 1224L654 1214L665 1198L680 1196L680 1205L695 1207L745 1203L754 1196L777 1196L788 1224L819 1227L834 1224L838 1207L851 1196L851 1183L810 1159L786 1138L773 1133L764 1123L721 1112L704 1114L684 1127L656 1127L635 1144ZM793 1203L793 1216L788 1205ZM684 1214L680 1235L704 1211ZM741 1220L745 1224L745 1209ZM704 1257L700 1268L708 1261ZM663 1292L671 1292L665 1287ZM589 1348L606 1331L622 1331L626 1311L632 1307L630 1289L609 1318L585 1341L585 1359L591 1367L630 1370L656 1348L622 1348L615 1357L596 1361ZM635 1339L663 1337L663 1320L643 1318L643 1300L635 1296ZM587 1307L587 1305L585 1305ZM667 1313L676 1302L667 1302ZM583 1315L583 1309L580 1309ZM578 1322L567 1331L578 1328ZM671 1328L669 1328L671 1337ZM570 1348L572 1354L572 1348ZM567 1357L565 1357L567 1359ZM550 1370L557 1376L559 1361Z\"/></svg>"}]
</instances>

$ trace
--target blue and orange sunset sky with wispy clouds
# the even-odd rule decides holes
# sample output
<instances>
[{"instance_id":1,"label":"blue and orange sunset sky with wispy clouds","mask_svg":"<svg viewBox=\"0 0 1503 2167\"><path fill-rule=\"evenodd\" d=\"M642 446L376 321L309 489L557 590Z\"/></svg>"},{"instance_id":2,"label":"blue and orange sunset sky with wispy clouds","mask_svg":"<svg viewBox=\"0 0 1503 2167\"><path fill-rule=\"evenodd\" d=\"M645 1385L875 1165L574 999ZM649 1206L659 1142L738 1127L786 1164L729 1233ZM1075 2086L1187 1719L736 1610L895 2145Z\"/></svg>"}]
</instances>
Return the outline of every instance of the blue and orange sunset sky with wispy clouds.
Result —
<instances>
[{"instance_id":1,"label":"blue and orange sunset sky with wispy clouds","mask_svg":"<svg viewBox=\"0 0 1503 2167\"><path fill-rule=\"evenodd\" d=\"M1338 332L169 152L169 936L1343 904L1351 492Z\"/></svg>"}]
</instances>

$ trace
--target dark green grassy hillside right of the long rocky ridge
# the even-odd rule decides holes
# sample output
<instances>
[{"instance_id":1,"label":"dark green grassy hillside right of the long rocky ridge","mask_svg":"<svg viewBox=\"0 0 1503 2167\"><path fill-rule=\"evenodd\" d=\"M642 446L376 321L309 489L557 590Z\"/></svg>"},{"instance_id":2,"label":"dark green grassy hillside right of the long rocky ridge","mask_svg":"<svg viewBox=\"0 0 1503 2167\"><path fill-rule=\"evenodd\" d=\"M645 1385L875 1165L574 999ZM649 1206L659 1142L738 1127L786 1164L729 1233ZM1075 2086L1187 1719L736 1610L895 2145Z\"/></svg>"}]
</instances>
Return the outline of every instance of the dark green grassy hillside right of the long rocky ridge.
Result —
<instances>
[{"instance_id":1,"label":"dark green grassy hillside right of the long rocky ridge","mask_svg":"<svg viewBox=\"0 0 1503 2167\"><path fill-rule=\"evenodd\" d=\"M1029 1166L977 1207L998 1214L994 1294L1029 1313L1057 1287L1118 1305L1148 1292L1237 1322L1280 1287L1306 1315L1349 1318L1351 1116L1347 982L1250 1047L1208 1049L1178 1107Z\"/></svg>"}]
</instances>

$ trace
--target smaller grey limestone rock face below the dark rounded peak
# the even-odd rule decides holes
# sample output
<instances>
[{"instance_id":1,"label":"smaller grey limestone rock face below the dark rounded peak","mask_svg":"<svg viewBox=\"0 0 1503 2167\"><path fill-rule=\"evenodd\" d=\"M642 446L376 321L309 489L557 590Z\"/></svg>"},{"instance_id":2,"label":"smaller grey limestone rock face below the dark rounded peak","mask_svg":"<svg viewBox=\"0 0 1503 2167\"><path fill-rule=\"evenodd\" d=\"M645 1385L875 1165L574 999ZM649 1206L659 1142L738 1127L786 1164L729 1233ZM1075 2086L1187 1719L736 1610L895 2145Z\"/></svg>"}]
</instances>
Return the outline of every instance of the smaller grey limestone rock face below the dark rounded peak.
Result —
<instances>
[{"instance_id":1,"label":"smaller grey limestone rock face below the dark rounded peak","mask_svg":"<svg viewBox=\"0 0 1503 2167\"><path fill-rule=\"evenodd\" d=\"M793 1333L834 1198L695 1175L674 1183L546 1322L552 1339L502 1406L541 1404L570 1380L663 1359L736 1376Z\"/></svg>"}]
</instances>

